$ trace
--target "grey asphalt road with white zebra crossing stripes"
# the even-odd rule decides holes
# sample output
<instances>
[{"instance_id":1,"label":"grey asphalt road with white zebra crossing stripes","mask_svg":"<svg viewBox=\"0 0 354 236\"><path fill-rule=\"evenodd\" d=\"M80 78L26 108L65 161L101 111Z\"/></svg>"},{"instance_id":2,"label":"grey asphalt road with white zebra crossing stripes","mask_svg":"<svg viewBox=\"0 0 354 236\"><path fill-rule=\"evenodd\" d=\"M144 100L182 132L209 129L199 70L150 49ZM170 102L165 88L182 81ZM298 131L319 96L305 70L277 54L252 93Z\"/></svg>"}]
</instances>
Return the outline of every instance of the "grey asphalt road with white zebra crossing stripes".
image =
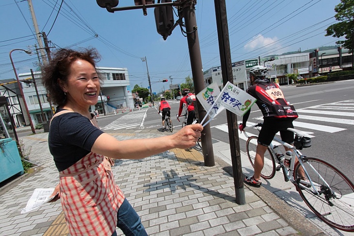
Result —
<instances>
[{"instance_id":1,"label":"grey asphalt road with white zebra crossing stripes","mask_svg":"<svg viewBox=\"0 0 354 236\"><path fill-rule=\"evenodd\" d=\"M354 140L354 80L303 87L282 86L281 89L300 115L294 121L295 128L314 133L311 138L312 147L304 149L303 153L335 165L354 180L354 169L351 165L353 154L350 148ZM176 132L181 124L175 118L179 101L169 102ZM262 115L257 105L254 105L251 111L248 122L260 121ZM220 114L210 122L210 132L213 139L229 143L225 114ZM237 118L241 122L241 117ZM163 132L160 130L161 116L154 107L131 114L100 118L99 125L105 132L117 129ZM257 135L256 130L254 134ZM244 139L240 135L241 151L245 151Z\"/></svg>"}]
</instances>

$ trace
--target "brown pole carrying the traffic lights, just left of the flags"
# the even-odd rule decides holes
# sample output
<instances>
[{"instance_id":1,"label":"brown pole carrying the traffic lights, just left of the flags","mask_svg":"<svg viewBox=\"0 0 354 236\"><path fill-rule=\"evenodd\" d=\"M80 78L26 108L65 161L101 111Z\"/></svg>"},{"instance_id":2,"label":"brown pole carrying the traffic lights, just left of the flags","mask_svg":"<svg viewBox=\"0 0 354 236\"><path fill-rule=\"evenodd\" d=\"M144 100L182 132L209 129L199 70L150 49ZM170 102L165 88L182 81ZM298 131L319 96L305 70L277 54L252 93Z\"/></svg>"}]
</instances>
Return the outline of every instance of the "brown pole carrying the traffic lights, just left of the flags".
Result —
<instances>
[{"instance_id":1,"label":"brown pole carrying the traffic lights, just left of the flags","mask_svg":"<svg viewBox=\"0 0 354 236\"><path fill-rule=\"evenodd\" d=\"M205 88L204 74L202 66L202 57L200 54L199 38L197 31L197 23L195 18L194 5L196 1L185 0L183 8L183 17L186 24L187 41L189 48L189 57L192 67L193 83L195 88L195 94L198 94ZM194 108L195 109L195 108ZM203 106L197 100L197 115L199 120L202 120L206 116L207 112L203 109ZM215 166L214 151L211 142L210 125L207 124L201 136L202 152L204 156L204 165L207 167Z\"/></svg>"}]
</instances>

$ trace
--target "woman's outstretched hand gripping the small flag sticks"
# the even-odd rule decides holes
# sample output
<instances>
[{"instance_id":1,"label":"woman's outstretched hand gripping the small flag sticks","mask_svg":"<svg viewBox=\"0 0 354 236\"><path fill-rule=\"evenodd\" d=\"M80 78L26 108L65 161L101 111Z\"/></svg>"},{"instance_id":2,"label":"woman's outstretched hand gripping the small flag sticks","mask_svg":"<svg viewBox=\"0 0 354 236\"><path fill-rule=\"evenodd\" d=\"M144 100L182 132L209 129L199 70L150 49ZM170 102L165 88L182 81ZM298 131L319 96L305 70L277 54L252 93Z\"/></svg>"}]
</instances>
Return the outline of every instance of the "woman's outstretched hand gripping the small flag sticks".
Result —
<instances>
[{"instance_id":1,"label":"woman's outstretched hand gripping the small flag sticks","mask_svg":"<svg viewBox=\"0 0 354 236\"><path fill-rule=\"evenodd\" d=\"M171 135L172 141L175 142L175 148L185 149L195 146L202 130L203 126L200 124L191 124L183 127L176 134Z\"/></svg>"}]
</instances>

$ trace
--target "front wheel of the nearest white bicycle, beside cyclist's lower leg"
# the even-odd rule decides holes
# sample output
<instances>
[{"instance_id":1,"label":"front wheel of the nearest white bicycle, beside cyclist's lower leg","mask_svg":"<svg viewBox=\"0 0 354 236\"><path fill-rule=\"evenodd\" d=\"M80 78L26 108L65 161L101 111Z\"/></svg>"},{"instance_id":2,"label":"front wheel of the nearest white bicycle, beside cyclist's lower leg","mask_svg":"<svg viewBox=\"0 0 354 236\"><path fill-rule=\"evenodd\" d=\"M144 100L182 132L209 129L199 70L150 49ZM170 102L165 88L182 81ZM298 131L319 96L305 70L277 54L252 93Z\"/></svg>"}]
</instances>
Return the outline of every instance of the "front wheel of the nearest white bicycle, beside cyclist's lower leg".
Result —
<instances>
[{"instance_id":1,"label":"front wheel of the nearest white bicycle, beside cyclist's lower leg","mask_svg":"<svg viewBox=\"0 0 354 236\"><path fill-rule=\"evenodd\" d=\"M255 157L257 149L257 136L251 136L247 139L246 149L247 156L251 162L252 167L255 167ZM268 147L267 151L264 153L264 167L260 176L264 179L272 179L275 175L275 161L271 149Z\"/></svg>"}]
</instances>

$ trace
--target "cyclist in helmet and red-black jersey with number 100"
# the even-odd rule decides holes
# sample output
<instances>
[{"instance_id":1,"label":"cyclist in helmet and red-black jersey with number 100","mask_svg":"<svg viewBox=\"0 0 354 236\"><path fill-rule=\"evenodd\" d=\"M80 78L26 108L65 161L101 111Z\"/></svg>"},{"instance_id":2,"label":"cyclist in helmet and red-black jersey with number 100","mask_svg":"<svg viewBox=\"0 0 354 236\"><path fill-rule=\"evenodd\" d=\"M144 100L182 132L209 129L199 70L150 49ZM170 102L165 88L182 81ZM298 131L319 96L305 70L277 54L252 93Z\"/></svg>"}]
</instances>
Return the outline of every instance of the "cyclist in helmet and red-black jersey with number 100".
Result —
<instances>
[{"instance_id":1,"label":"cyclist in helmet and red-black jersey with number 100","mask_svg":"<svg viewBox=\"0 0 354 236\"><path fill-rule=\"evenodd\" d=\"M247 93L256 98L256 104L263 114L263 125L257 139L255 157L255 171L253 176L245 177L244 182L248 185L259 187L262 182L260 173L264 167L264 153L271 144L276 133L280 132L281 140L289 144L294 143L294 134L287 128L294 128L292 120L298 117L295 108L289 105L278 84L271 82L267 77L268 69L262 66L255 66L250 69L250 81L252 86ZM240 131L246 127L249 118L249 110L242 119ZM286 151L289 148L284 147Z\"/></svg>"}]
</instances>

